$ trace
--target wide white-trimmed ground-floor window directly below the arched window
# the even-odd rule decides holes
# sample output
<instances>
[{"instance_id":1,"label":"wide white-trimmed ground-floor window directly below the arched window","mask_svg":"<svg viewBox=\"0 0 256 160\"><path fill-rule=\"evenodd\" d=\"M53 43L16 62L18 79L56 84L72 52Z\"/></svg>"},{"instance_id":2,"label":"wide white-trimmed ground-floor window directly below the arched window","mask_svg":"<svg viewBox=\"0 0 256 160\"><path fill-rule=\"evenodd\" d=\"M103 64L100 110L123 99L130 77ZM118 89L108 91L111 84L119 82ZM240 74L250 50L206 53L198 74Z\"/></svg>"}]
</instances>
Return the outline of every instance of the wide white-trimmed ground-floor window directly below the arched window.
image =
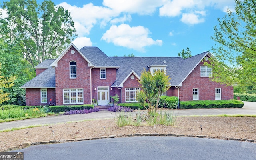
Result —
<instances>
[{"instance_id":1,"label":"wide white-trimmed ground-floor window directly below the arched window","mask_svg":"<svg viewBox=\"0 0 256 160\"><path fill-rule=\"evenodd\" d=\"M63 104L83 104L83 89L63 89Z\"/></svg>"}]
</instances>

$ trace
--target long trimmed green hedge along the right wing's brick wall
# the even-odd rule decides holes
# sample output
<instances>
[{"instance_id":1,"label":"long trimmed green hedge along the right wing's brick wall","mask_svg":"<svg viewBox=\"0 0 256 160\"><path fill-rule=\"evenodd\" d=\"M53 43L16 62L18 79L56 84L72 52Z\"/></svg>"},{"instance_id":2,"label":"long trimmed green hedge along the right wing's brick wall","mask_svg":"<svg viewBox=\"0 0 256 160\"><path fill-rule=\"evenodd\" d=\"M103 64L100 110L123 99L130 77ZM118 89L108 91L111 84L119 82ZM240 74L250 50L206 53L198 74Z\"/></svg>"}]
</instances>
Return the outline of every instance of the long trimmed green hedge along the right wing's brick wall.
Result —
<instances>
[{"instance_id":1,"label":"long trimmed green hedge along the right wing's brick wall","mask_svg":"<svg viewBox=\"0 0 256 160\"><path fill-rule=\"evenodd\" d=\"M192 108L242 108L244 102L240 100L193 100L180 101L180 109Z\"/></svg>"}]
</instances>

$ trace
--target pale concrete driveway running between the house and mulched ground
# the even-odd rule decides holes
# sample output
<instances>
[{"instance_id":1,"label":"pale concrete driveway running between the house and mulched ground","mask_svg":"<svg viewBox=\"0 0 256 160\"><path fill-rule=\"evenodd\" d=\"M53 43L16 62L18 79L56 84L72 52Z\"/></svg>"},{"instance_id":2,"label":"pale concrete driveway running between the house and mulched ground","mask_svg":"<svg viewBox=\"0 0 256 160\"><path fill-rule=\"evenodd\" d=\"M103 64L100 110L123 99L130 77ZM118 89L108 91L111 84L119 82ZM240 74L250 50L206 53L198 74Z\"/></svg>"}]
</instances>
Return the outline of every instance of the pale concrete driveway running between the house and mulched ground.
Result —
<instances>
[{"instance_id":1,"label":"pale concrete driveway running between the house and mulched ground","mask_svg":"<svg viewBox=\"0 0 256 160\"><path fill-rule=\"evenodd\" d=\"M135 116L135 112L132 113ZM178 110L178 116L190 115L220 115L220 114L250 114L256 115L256 102L244 102L243 108L213 108L213 109L186 109ZM56 124L70 121L89 120L89 119L106 119L114 118L115 112L100 111L89 114L73 114L62 116L49 116L42 118L33 118L28 120L18 120L12 122L0 123L0 130L20 126L31 126L36 124Z\"/></svg>"}]
</instances>

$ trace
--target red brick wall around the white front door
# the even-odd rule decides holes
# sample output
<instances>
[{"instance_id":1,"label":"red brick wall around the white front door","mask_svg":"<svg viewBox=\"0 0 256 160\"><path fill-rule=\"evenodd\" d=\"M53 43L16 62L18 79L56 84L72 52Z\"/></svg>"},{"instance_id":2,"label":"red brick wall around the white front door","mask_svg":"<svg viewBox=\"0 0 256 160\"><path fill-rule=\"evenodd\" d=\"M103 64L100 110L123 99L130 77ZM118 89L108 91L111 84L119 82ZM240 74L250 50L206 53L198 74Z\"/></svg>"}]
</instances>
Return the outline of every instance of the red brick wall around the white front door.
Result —
<instances>
[{"instance_id":1,"label":"red brick wall around the white front door","mask_svg":"<svg viewBox=\"0 0 256 160\"><path fill-rule=\"evenodd\" d=\"M104 69L104 68L102 68ZM106 79L100 79L100 68L92 69L92 98L97 97L97 87L109 87L109 96L114 96L115 91L111 90L111 85L116 80L116 69L115 68L106 68ZM94 90L96 88L96 90Z\"/></svg>"}]
</instances>

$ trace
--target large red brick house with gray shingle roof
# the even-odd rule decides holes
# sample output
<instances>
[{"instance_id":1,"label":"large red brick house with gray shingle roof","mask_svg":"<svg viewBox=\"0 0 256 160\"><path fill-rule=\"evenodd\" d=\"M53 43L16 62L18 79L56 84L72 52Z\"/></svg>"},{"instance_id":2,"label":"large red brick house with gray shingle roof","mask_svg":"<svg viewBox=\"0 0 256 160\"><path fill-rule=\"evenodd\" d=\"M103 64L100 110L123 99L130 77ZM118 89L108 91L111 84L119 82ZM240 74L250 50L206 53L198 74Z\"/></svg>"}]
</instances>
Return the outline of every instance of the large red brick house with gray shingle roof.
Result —
<instances>
[{"instance_id":1,"label":"large red brick house with gray shingle roof","mask_svg":"<svg viewBox=\"0 0 256 160\"><path fill-rule=\"evenodd\" d=\"M96 99L106 105L118 94L120 102L136 102L140 74L161 69L172 78L164 93L187 100L229 100L233 87L209 81L211 68L204 66L212 54L204 52L190 58L108 57L97 47L78 50L70 44L56 59L35 66L36 77L21 86L26 89L26 105L90 104Z\"/></svg>"}]
</instances>

